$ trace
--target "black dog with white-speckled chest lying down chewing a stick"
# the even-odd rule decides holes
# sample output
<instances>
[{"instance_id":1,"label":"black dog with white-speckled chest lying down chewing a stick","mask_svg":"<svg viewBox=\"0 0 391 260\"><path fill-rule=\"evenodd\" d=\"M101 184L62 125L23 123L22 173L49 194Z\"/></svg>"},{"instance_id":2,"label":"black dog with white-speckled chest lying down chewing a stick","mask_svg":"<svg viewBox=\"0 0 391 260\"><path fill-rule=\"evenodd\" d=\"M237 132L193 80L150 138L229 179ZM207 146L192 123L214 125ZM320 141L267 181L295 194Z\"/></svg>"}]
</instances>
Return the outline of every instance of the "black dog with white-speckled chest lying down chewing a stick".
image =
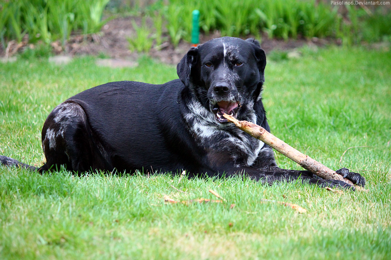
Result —
<instances>
[{"instance_id":1,"label":"black dog with white-speckled chest lying down chewing a stick","mask_svg":"<svg viewBox=\"0 0 391 260\"><path fill-rule=\"evenodd\" d=\"M41 168L0 156L5 165L39 172L64 165L95 170L245 174L265 183L303 182L350 187L308 171L280 169L272 149L222 117L270 131L261 93L266 56L258 41L223 37L192 47L177 65L179 80L162 85L120 81L100 85L58 105L46 119ZM337 171L361 186L365 179Z\"/></svg>"}]
</instances>

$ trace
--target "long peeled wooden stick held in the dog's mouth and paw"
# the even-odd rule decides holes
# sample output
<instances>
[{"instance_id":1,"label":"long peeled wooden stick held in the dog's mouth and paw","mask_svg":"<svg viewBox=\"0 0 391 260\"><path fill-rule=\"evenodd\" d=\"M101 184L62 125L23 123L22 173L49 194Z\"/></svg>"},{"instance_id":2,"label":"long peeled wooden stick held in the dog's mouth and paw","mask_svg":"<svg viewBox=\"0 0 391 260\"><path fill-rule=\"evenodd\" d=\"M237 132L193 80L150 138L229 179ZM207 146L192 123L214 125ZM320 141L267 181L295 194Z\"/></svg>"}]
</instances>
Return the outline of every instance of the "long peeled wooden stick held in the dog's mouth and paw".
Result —
<instances>
[{"instance_id":1,"label":"long peeled wooden stick held in the dog's mouth and paw","mask_svg":"<svg viewBox=\"0 0 391 260\"><path fill-rule=\"evenodd\" d=\"M263 127L254 124L252 122L248 121L239 121L236 118L224 114L224 118L226 118L228 121L233 122L239 129L243 130L244 132L248 133L249 135L255 137L256 139L261 140L262 142L266 143L267 145L271 146L278 152L282 153L284 156L289 158L290 160L293 160L300 164L304 169L312 172L313 174L325 179L325 180L342 180L350 185L354 185L353 182L351 182L348 179L344 179L341 175L336 173L335 171L327 168L325 165L320 163L319 161L316 161L312 158L310 158L307 155L304 155L303 153L299 152L289 144L285 143L284 141L278 139L277 137L273 136L269 132L267 132ZM355 186L356 188L361 188L359 186Z\"/></svg>"}]
</instances>

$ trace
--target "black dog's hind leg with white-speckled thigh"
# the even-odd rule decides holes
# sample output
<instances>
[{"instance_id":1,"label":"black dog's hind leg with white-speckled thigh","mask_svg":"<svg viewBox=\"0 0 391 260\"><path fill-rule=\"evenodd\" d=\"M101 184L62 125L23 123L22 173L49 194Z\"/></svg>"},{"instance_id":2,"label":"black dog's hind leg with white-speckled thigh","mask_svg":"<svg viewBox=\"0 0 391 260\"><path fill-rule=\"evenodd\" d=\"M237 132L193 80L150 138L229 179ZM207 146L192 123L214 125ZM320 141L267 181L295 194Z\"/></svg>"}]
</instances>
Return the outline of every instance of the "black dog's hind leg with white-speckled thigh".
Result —
<instances>
[{"instance_id":1,"label":"black dog's hind leg with white-speckled thigh","mask_svg":"<svg viewBox=\"0 0 391 260\"><path fill-rule=\"evenodd\" d=\"M67 170L86 172L95 169L111 170L98 149L83 108L73 101L58 105L47 117L42 130L42 147L46 164L41 170L64 165Z\"/></svg>"}]
</instances>

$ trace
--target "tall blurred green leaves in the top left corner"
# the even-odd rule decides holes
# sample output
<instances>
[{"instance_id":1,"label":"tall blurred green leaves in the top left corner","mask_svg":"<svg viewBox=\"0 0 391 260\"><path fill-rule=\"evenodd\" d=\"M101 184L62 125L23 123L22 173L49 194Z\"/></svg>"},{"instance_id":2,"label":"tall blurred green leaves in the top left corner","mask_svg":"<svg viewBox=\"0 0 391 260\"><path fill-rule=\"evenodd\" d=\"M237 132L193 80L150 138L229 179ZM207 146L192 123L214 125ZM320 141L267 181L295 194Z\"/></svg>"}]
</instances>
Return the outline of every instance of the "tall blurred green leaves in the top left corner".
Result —
<instances>
[{"instance_id":1,"label":"tall blurred green leaves in the top left corner","mask_svg":"<svg viewBox=\"0 0 391 260\"><path fill-rule=\"evenodd\" d=\"M106 23L102 13L109 0L17 0L0 1L0 40L60 39L65 43L72 31L97 33ZM5 48L5 46L3 46Z\"/></svg>"}]
</instances>

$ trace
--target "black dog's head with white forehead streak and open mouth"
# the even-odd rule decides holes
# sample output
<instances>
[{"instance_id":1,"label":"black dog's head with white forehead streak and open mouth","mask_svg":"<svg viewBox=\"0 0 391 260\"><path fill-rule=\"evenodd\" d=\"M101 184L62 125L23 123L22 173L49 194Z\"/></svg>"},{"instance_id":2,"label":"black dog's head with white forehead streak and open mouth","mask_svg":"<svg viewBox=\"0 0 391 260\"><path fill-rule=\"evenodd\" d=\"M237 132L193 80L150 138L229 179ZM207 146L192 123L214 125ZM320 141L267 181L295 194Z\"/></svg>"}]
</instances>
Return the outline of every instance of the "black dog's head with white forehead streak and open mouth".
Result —
<instances>
[{"instance_id":1,"label":"black dog's head with white forehead streak and open mouth","mask_svg":"<svg viewBox=\"0 0 391 260\"><path fill-rule=\"evenodd\" d=\"M176 70L195 98L223 123L227 120L222 114L238 117L261 98L265 66L257 40L222 37L192 47Z\"/></svg>"}]
</instances>

